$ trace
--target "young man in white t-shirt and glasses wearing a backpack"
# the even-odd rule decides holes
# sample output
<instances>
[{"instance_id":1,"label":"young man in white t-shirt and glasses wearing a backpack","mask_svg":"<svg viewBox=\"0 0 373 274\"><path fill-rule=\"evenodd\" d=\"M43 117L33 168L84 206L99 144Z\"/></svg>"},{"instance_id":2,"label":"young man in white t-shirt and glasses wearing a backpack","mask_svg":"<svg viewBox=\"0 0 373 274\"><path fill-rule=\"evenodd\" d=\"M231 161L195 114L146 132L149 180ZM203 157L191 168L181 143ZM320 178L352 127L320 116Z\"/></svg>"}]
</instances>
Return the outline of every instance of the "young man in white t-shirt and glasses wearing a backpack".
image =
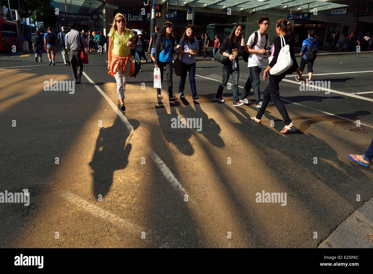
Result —
<instances>
[{"instance_id":1,"label":"young man in white t-shirt and glasses wearing a backpack","mask_svg":"<svg viewBox=\"0 0 373 274\"><path fill-rule=\"evenodd\" d=\"M247 79L245 84L245 88L242 91L240 102L248 104L249 101L247 96L253 88L256 105L257 108L261 107L262 100L260 99L260 92L259 92L259 85L260 85L260 77L259 74L263 67L263 54L269 54L268 48L270 47L269 44L269 37L265 33L269 27L269 19L265 16L262 16L258 19L258 31L254 32L250 35L249 40L247 41L245 51L250 53L247 66L250 69L250 76ZM253 47L253 48L251 48Z\"/></svg>"}]
</instances>

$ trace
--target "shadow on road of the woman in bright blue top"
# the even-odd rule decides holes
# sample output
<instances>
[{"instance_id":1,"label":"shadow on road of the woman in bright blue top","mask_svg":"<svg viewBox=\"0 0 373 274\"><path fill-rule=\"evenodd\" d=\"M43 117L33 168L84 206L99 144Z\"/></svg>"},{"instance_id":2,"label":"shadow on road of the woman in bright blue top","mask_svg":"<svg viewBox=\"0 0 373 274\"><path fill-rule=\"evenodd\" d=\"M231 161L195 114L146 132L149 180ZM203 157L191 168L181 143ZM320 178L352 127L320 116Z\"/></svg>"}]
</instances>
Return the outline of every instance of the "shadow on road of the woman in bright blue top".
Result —
<instances>
[{"instance_id":1,"label":"shadow on road of the woman in bright blue top","mask_svg":"<svg viewBox=\"0 0 373 274\"><path fill-rule=\"evenodd\" d=\"M178 120L175 106L177 103L170 103L171 114L167 113L162 101L158 100L158 105L155 105L155 110L158 116L158 122L163 136L167 142L170 142L179 149L182 154L192 155L194 148L189 141L192 136L192 130L189 128L172 128L172 119Z\"/></svg>"}]
</instances>

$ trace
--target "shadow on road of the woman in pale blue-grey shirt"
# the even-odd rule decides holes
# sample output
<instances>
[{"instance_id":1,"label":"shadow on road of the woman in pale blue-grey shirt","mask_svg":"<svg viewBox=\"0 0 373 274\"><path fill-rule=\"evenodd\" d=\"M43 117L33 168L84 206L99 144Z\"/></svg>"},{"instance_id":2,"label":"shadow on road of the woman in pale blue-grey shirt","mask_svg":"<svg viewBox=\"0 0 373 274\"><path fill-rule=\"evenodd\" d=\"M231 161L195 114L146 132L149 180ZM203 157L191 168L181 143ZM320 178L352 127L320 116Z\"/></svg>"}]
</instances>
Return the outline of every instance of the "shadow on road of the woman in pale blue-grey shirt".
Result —
<instances>
[{"instance_id":1,"label":"shadow on road of the woman in pale blue-grey shirt","mask_svg":"<svg viewBox=\"0 0 373 274\"><path fill-rule=\"evenodd\" d=\"M207 114L202 110L201 104L197 101L193 101L194 108L192 108L185 98L182 98L181 101L184 103L184 107L178 107L179 113L185 118L195 118L200 119L201 121L201 130L197 131L197 129L193 129L195 133L202 134L210 142L210 144L214 145L215 147L224 147L224 141L219 136L219 133L221 132L220 126L215 122L214 119L207 116Z\"/></svg>"}]
</instances>

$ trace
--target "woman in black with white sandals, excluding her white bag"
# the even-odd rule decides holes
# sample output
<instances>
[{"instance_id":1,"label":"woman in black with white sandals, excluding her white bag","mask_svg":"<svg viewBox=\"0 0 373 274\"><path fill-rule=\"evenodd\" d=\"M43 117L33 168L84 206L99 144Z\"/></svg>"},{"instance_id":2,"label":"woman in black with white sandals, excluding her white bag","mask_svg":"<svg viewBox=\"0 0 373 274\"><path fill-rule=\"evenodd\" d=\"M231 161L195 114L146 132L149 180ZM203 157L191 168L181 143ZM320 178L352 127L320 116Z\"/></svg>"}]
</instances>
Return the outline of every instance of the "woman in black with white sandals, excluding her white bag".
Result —
<instances>
[{"instance_id":1,"label":"woman in black with white sandals, excluding her white bag","mask_svg":"<svg viewBox=\"0 0 373 274\"><path fill-rule=\"evenodd\" d=\"M289 41L291 39L292 33L293 33L293 28L291 23L286 20L286 19L280 19L276 22L276 31L278 35L281 35L285 38L285 44L289 44ZM282 116L282 119L285 122L285 126L283 129L280 131L281 133L286 133L289 130L291 130L294 125L291 122L291 119L289 117L288 112L286 111L286 108L282 104L280 100L280 87L279 83L283 78L285 78L286 74L292 74L294 71L298 73L299 79L301 81L302 85L305 85L305 79L302 77L302 73L299 70L297 60L295 59L295 54L294 54L294 48L292 44L289 44L290 47L290 55L291 59L293 60L293 65L290 67L286 72L281 73L280 75L272 75L270 74L269 70L277 63L277 58L281 50L281 37L276 37L275 38L275 52L273 53L273 59L267 66L267 68L264 70L263 74L263 80L267 81L267 73L269 75L269 84L264 90L263 94L263 104L261 105L260 110L258 111L257 115L254 117L250 117L251 120L260 123L260 119L263 116L264 111L267 108L268 102L269 102L269 97L272 97L273 103L276 105L277 110Z\"/></svg>"}]
</instances>

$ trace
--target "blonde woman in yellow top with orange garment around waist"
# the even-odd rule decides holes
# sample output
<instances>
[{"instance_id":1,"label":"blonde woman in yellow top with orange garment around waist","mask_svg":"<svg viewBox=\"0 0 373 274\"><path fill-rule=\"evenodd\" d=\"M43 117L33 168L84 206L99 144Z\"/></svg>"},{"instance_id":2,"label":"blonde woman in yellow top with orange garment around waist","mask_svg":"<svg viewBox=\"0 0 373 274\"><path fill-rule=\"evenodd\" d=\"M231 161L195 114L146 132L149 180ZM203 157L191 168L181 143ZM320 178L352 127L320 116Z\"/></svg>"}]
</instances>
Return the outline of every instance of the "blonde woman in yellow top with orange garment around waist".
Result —
<instances>
[{"instance_id":1,"label":"blonde woman in yellow top with orange garment around waist","mask_svg":"<svg viewBox=\"0 0 373 274\"><path fill-rule=\"evenodd\" d=\"M115 77L117 83L118 102L120 110L125 111L123 99L126 81L134 74L134 63L131 59L130 48L135 48L134 33L126 29L126 21L121 13L117 13L109 32L109 49L107 50L109 74Z\"/></svg>"}]
</instances>

